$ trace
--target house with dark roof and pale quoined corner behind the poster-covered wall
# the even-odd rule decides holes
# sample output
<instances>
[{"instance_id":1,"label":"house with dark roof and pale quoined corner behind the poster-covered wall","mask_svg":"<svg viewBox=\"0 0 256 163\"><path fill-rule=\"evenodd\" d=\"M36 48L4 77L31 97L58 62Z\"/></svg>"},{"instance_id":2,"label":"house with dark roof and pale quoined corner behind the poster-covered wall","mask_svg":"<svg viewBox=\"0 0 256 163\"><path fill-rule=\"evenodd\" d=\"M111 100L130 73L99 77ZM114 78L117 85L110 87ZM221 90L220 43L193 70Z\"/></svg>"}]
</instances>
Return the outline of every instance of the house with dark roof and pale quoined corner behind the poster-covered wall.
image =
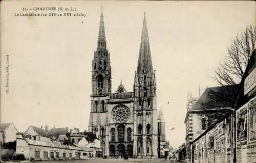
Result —
<instances>
[{"instance_id":1,"label":"house with dark roof and pale quoined corner behind the poster-covered wall","mask_svg":"<svg viewBox=\"0 0 256 163\"><path fill-rule=\"evenodd\" d=\"M232 113L232 99L238 85L208 87L199 99L188 101L186 123L186 160L193 160L189 144L197 139L208 128Z\"/></svg>"}]
</instances>

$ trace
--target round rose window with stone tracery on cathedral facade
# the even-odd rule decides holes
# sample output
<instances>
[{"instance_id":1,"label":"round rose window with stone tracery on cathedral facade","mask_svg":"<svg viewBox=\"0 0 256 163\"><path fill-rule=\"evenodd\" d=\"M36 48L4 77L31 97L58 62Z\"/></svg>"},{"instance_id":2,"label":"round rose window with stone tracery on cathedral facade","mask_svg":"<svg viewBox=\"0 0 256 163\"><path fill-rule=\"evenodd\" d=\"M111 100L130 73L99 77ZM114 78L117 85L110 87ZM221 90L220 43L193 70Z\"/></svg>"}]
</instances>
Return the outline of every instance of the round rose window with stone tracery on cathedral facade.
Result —
<instances>
[{"instance_id":1,"label":"round rose window with stone tracery on cathedral facade","mask_svg":"<svg viewBox=\"0 0 256 163\"><path fill-rule=\"evenodd\" d=\"M113 108L111 116L112 119L117 123L123 123L130 117L130 110L125 105L117 105Z\"/></svg>"}]
</instances>

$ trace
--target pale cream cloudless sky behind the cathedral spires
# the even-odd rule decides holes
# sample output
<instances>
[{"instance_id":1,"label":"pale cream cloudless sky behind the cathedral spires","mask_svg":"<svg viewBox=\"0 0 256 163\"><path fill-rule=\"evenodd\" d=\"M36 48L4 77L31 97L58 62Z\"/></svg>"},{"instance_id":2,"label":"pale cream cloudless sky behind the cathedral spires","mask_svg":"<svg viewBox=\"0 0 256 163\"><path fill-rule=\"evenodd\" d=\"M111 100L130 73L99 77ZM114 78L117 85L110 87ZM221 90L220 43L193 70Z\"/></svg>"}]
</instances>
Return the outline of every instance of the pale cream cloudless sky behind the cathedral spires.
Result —
<instances>
[{"instance_id":1,"label":"pale cream cloudless sky behind the cathedral spires","mask_svg":"<svg viewBox=\"0 0 256 163\"><path fill-rule=\"evenodd\" d=\"M255 24L253 1L5 1L1 4L1 123L88 129L92 59L103 7L112 92L133 91L144 12L166 138L185 143L188 92L216 86L211 78L227 46ZM29 7L76 8L86 17L14 16ZM4 93L9 55L9 93ZM202 92L201 92L202 93ZM171 128L173 128L171 130Z\"/></svg>"}]
</instances>

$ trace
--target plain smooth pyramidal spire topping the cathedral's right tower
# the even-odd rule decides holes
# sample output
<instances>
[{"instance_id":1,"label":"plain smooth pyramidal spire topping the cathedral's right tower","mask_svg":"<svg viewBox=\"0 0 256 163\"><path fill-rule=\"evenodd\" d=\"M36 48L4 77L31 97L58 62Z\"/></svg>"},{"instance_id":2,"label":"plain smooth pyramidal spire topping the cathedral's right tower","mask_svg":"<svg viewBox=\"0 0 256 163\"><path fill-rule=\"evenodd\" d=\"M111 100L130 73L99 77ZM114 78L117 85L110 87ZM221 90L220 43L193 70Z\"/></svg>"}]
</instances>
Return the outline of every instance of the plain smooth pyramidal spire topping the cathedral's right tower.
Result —
<instances>
[{"instance_id":1,"label":"plain smooth pyramidal spire topping the cathedral's right tower","mask_svg":"<svg viewBox=\"0 0 256 163\"><path fill-rule=\"evenodd\" d=\"M150 52L150 41L148 39L146 15L144 13L141 41L140 41L140 52L139 61L137 67L137 73L140 75L147 74L147 76L153 76L153 65Z\"/></svg>"}]
</instances>

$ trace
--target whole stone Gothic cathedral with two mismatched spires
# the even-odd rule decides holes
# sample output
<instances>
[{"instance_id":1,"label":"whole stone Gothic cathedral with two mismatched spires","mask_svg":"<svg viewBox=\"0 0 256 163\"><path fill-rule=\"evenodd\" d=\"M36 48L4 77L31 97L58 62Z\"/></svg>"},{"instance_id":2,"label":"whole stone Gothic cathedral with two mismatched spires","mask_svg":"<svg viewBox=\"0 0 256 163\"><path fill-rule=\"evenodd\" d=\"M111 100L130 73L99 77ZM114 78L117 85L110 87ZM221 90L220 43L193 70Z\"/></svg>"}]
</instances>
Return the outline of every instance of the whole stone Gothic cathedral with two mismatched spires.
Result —
<instances>
[{"instance_id":1,"label":"whole stone Gothic cathedral with two mismatched spires","mask_svg":"<svg viewBox=\"0 0 256 163\"><path fill-rule=\"evenodd\" d=\"M133 92L120 83L111 92L110 52L106 48L101 9L97 50L92 61L92 93L89 131L96 134L106 157L158 157L159 113L157 111L156 75L144 14L137 71ZM160 118L159 118L160 117ZM162 128L162 127L161 127Z\"/></svg>"}]
</instances>

